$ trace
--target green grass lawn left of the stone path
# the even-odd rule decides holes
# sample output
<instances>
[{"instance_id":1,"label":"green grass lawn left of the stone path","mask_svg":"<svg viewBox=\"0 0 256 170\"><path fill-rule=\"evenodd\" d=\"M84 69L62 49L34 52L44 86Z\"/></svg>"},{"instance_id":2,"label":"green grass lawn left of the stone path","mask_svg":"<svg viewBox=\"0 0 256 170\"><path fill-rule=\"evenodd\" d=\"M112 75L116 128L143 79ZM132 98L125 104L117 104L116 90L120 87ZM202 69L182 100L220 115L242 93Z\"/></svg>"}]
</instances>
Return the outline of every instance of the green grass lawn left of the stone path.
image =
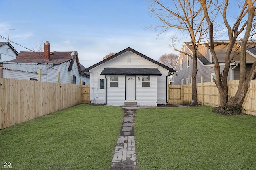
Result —
<instances>
[{"instance_id":1,"label":"green grass lawn left of the stone path","mask_svg":"<svg viewBox=\"0 0 256 170\"><path fill-rule=\"evenodd\" d=\"M0 168L109 170L121 107L80 104L0 130Z\"/></svg>"}]
</instances>

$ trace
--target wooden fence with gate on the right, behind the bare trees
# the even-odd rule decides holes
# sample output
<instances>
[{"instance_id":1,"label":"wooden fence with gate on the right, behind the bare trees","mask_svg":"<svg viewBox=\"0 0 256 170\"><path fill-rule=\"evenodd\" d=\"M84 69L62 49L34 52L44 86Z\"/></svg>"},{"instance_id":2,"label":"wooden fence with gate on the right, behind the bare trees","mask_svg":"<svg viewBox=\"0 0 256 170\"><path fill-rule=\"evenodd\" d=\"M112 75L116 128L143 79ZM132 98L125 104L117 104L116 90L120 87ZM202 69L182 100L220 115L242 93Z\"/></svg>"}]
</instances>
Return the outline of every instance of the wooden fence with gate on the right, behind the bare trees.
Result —
<instances>
[{"instance_id":1,"label":"wooden fence with gate on the right, behind the bare trees","mask_svg":"<svg viewBox=\"0 0 256 170\"><path fill-rule=\"evenodd\" d=\"M236 94L239 80L228 81L228 98ZM201 105L218 107L220 105L220 94L214 82L197 83L197 98ZM192 100L191 84L169 85L169 104L188 104ZM256 115L256 80L251 80L250 87L242 105L244 112Z\"/></svg>"}]
</instances>

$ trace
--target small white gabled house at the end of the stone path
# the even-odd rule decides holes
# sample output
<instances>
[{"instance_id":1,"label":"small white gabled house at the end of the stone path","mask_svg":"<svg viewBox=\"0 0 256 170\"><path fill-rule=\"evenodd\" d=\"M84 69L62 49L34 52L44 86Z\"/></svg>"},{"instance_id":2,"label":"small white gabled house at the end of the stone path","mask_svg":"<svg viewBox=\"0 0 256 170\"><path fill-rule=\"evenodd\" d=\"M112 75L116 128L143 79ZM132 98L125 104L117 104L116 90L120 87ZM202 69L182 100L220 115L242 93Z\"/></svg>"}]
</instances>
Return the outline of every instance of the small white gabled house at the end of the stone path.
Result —
<instances>
[{"instance_id":1,"label":"small white gabled house at the end of the stone path","mask_svg":"<svg viewBox=\"0 0 256 170\"><path fill-rule=\"evenodd\" d=\"M90 66L91 103L124 106L166 104L168 76L175 70L128 47Z\"/></svg>"}]
</instances>

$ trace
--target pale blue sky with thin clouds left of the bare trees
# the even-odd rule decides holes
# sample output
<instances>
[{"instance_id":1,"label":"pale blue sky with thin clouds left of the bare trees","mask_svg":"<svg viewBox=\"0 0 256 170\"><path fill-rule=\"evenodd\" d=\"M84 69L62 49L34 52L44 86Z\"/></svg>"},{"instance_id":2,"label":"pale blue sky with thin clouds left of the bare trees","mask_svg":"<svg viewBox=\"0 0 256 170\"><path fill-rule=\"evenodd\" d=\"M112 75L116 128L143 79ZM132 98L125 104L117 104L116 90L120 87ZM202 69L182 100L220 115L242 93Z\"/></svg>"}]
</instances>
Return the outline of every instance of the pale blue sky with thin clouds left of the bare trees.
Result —
<instances>
[{"instance_id":1,"label":"pale blue sky with thin clouds left of the bare trees","mask_svg":"<svg viewBox=\"0 0 256 170\"><path fill-rule=\"evenodd\" d=\"M146 0L0 0L0 35L32 49L43 40L51 51L78 51L86 68L111 53L127 47L158 61L168 47L169 32L157 38L158 31L145 27L159 25L150 18ZM182 38L182 36L180 37ZM6 41L0 39L1 42ZM180 39L182 42L188 41ZM27 49L13 44L20 51Z\"/></svg>"}]
</instances>

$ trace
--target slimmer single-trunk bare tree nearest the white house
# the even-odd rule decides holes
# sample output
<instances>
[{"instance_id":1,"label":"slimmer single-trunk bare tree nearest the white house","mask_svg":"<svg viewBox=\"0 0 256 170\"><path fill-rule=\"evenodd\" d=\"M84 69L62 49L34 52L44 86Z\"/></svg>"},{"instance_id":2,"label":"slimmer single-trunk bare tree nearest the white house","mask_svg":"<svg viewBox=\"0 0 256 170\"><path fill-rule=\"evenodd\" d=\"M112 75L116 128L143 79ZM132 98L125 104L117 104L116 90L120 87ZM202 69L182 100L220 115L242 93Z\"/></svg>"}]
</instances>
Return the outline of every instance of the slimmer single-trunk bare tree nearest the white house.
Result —
<instances>
[{"instance_id":1,"label":"slimmer single-trunk bare tree nearest the white house","mask_svg":"<svg viewBox=\"0 0 256 170\"><path fill-rule=\"evenodd\" d=\"M175 48L177 39L173 37L172 47L175 51L188 55L192 61L192 102L191 105L198 105L196 75L197 75L197 48L202 36L208 27L204 27L204 15L198 0L170 0L162 3L160 0L149 0L148 8L152 15L156 16L163 25L151 26L149 28L160 29L161 35L170 30L178 29L181 32L188 32L192 44L192 55Z\"/></svg>"}]
</instances>

